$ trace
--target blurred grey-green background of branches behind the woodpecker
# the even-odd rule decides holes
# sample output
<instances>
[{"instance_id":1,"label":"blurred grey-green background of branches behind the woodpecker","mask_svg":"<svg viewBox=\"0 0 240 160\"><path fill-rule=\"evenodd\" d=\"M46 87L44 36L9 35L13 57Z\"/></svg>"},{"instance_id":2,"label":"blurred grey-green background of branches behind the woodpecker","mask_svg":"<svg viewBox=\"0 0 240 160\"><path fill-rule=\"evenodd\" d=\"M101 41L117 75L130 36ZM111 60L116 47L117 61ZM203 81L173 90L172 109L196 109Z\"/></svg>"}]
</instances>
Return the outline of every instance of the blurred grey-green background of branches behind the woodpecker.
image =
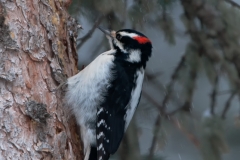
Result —
<instances>
[{"instance_id":1,"label":"blurred grey-green background of branches behind the woodpecker","mask_svg":"<svg viewBox=\"0 0 240 160\"><path fill-rule=\"evenodd\" d=\"M153 44L142 99L112 160L240 159L240 0L73 0L79 69L109 49L96 29Z\"/></svg>"}]
</instances>

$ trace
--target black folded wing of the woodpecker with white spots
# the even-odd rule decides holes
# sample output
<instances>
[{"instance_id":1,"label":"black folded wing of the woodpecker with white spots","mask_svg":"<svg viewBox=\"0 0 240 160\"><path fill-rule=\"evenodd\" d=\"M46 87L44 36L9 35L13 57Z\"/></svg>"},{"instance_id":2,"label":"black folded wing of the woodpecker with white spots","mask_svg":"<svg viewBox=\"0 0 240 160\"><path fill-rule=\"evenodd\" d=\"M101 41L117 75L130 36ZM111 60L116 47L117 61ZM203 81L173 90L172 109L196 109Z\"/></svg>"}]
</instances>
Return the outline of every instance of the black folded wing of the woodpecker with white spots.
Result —
<instances>
[{"instance_id":1,"label":"black folded wing of the woodpecker with white spots","mask_svg":"<svg viewBox=\"0 0 240 160\"><path fill-rule=\"evenodd\" d=\"M104 97L105 101L97 109L97 149L98 160L107 160L109 154L117 151L125 131L125 114L134 87L134 75L127 75L118 67Z\"/></svg>"}]
</instances>

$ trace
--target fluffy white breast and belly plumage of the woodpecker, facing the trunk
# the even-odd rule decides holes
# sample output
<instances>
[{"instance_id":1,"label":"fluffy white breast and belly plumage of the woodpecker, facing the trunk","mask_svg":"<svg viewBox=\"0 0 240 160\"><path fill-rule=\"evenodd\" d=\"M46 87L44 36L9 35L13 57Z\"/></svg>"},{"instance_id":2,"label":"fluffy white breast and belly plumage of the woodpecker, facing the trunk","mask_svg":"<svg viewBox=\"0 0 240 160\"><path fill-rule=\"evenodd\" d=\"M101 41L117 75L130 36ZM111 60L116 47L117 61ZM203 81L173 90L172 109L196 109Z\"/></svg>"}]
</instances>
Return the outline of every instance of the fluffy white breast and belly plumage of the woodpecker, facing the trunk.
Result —
<instances>
[{"instance_id":1,"label":"fluffy white breast and belly plumage of the woodpecker, facing the trunk","mask_svg":"<svg viewBox=\"0 0 240 160\"><path fill-rule=\"evenodd\" d=\"M110 69L113 66L115 50L100 54L84 70L68 79L66 101L71 106L78 124L81 126L81 135L84 141L84 150L90 144L96 144L96 133L85 127L86 121L96 118L97 104L102 101L100 95L110 85ZM94 82L94 83L92 83Z\"/></svg>"}]
</instances>

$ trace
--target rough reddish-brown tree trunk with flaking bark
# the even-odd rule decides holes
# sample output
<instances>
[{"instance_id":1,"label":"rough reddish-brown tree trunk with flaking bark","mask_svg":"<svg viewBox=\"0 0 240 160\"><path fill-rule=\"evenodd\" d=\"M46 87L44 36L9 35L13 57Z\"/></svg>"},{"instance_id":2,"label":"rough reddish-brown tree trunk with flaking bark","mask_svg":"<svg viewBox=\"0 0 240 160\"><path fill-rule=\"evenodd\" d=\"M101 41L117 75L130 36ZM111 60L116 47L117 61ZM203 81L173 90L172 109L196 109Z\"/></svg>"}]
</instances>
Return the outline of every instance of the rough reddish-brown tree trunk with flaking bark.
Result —
<instances>
[{"instance_id":1,"label":"rough reddish-brown tree trunk with flaking bark","mask_svg":"<svg viewBox=\"0 0 240 160\"><path fill-rule=\"evenodd\" d=\"M63 94L77 73L71 0L0 0L0 159L82 159Z\"/></svg>"}]
</instances>

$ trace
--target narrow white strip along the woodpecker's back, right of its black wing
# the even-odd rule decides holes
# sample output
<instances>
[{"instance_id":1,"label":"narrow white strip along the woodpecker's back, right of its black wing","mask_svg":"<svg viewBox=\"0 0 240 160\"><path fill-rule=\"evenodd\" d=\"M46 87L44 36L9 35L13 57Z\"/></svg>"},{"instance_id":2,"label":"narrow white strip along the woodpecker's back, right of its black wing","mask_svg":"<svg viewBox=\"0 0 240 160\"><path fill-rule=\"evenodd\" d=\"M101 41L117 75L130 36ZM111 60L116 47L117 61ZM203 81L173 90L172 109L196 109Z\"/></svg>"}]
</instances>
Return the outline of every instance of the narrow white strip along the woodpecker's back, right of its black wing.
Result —
<instances>
[{"instance_id":1,"label":"narrow white strip along the woodpecker's back, right of its black wing","mask_svg":"<svg viewBox=\"0 0 240 160\"><path fill-rule=\"evenodd\" d=\"M125 115L125 131L133 117L133 114L137 108L138 105L138 101L141 95L141 91L142 91L142 83L143 83L143 79L144 79L144 69L141 68L140 70L137 71L136 73L137 79L136 79L136 88L134 90L132 90L131 93L131 100L129 101L129 104L127 106L127 113Z\"/></svg>"}]
</instances>

